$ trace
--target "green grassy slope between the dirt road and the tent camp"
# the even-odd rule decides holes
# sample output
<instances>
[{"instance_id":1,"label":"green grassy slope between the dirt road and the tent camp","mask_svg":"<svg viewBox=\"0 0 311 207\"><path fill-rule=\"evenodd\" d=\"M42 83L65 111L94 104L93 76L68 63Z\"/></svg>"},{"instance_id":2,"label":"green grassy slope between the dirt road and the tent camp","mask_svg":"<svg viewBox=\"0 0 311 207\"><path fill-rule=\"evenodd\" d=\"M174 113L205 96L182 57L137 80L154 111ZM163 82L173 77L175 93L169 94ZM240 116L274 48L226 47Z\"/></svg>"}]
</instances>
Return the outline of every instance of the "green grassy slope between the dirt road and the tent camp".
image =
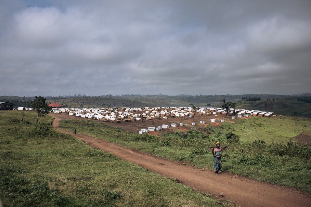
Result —
<instances>
[{"instance_id":1,"label":"green grassy slope between the dirt road and the tent camp","mask_svg":"<svg viewBox=\"0 0 311 207\"><path fill-rule=\"evenodd\" d=\"M222 158L223 170L273 184L311 192L311 147L286 142L310 128L310 119L280 116L253 117L220 127L206 127L204 132L164 133L160 137L125 132L92 120L66 120L61 128L97 137L169 160L187 162L198 168L213 169L208 146L216 141L229 145ZM228 140L232 132L240 140ZM272 141L273 140L273 141Z\"/></svg>"}]
</instances>

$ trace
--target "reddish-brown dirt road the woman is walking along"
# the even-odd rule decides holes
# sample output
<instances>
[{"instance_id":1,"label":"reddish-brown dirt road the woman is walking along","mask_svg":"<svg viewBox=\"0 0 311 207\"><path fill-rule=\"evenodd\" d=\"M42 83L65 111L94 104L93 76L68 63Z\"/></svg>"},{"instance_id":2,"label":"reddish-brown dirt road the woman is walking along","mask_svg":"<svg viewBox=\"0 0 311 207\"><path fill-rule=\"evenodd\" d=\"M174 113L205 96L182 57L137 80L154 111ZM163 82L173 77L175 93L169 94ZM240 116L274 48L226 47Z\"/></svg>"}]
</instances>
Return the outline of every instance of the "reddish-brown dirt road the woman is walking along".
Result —
<instances>
[{"instance_id":1,"label":"reddish-brown dirt road the woman is walking along","mask_svg":"<svg viewBox=\"0 0 311 207\"><path fill-rule=\"evenodd\" d=\"M71 116L50 114L55 117L53 127L67 134L59 128L62 119ZM311 195L295 189L254 181L247 177L221 173L219 176L212 171L193 168L178 162L156 158L150 154L126 149L120 145L101 139L77 134L77 138L94 148L110 152L121 159L140 165L152 172L165 177L173 177L180 183L193 189L215 196L218 199L227 199L241 206L310 206ZM223 194L224 197L221 197Z\"/></svg>"}]
</instances>

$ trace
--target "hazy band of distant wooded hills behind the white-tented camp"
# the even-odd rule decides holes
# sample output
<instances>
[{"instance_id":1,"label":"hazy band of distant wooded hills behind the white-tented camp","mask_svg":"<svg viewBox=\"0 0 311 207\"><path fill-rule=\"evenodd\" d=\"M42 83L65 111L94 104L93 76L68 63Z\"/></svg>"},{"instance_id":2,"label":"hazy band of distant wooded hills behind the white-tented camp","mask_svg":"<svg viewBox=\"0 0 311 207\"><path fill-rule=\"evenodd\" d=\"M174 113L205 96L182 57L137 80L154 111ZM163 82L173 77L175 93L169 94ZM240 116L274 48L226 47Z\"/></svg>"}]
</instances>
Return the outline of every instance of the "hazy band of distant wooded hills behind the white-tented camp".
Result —
<instances>
[{"instance_id":1,"label":"hazy band of distant wooded hills behind the white-tented camp","mask_svg":"<svg viewBox=\"0 0 311 207\"><path fill-rule=\"evenodd\" d=\"M260 97L260 101L242 101L242 97ZM276 94L242 94L242 95L140 95L123 94L113 96L47 96L47 103L58 103L68 108L107 108L107 107L188 107L190 103L198 107L220 107L221 99L236 102L237 108L258 109L272 111L276 114L296 115L311 117L311 104L297 101L301 96L276 95ZM11 102L14 108L30 107L35 97L0 96L0 102ZM267 104L266 104L267 103Z\"/></svg>"}]
</instances>

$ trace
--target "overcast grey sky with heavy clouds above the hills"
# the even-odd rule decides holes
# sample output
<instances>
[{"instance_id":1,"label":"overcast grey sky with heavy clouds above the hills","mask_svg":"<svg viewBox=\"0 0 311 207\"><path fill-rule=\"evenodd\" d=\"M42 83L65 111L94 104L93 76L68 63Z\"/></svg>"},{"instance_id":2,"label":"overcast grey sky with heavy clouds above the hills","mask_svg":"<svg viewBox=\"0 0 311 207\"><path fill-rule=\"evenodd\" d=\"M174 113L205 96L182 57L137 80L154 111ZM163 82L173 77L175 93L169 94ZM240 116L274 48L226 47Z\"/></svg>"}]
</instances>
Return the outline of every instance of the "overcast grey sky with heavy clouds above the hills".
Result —
<instances>
[{"instance_id":1,"label":"overcast grey sky with heavy clouds above the hills","mask_svg":"<svg viewBox=\"0 0 311 207\"><path fill-rule=\"evenodd\" d=\"M310 0L0 0L0 95L311 92L310 11Z\"/></svg>"}]
</instances>

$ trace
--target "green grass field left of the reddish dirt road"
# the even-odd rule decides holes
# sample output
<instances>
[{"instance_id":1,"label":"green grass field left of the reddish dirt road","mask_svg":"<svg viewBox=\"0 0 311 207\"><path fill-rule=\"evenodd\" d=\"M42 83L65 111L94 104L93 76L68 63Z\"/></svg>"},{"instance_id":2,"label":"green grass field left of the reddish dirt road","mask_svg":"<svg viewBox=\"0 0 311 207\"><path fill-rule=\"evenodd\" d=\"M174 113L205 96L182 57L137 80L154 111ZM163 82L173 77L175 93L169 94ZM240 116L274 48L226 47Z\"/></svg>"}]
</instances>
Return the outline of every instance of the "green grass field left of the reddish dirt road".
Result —
<instances>
[{"instance_id":1,"label":"green grass field left of the reddish dirt road","mask_svg":"<svg viewBox=\"0 0 311 207\"><path fill-rule=\"evenodd\" d=\"M35 126L35 113L25 113L21 123L20 111L0 111L4 206L230 206L59 133L50 116Z\"/></svg>"}]
</instances>

